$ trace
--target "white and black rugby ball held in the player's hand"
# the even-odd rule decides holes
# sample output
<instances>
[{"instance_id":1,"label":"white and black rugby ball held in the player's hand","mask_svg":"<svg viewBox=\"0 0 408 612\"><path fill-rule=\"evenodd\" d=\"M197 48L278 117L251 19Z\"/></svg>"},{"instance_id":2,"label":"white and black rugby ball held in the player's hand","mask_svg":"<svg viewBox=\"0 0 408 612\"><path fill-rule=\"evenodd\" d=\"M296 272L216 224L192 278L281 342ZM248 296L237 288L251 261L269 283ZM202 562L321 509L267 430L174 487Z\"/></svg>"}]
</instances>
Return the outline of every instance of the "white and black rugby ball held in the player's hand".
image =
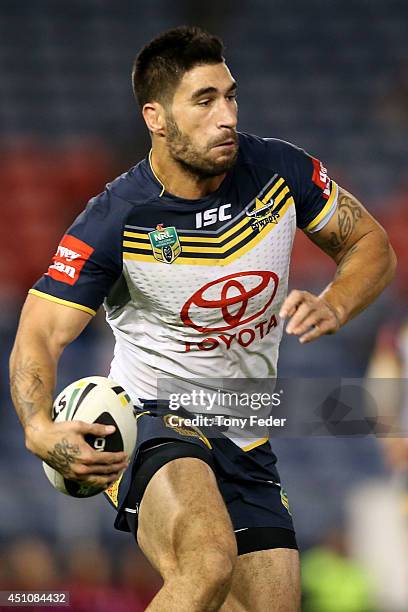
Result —
<instances>
[{"instance_id":1,"label":"white and black rugby ball held in the player's hand","mask_svg":"<svg viewBox=\"0 0 408 612\"><path fill-rule=\"evenodd\" d=\"M52 408L54 421L85 421L114 425L116 431L105 437L86 435L85 440L95 450L125 451L131 456L136 444L136 418L125 389L103 376L81 378L68 385L58 395ZM86 483L67 480L43 461L44 472L58 491L72 497L91 497L103 489Z\"/></svg>"}]
</instances>

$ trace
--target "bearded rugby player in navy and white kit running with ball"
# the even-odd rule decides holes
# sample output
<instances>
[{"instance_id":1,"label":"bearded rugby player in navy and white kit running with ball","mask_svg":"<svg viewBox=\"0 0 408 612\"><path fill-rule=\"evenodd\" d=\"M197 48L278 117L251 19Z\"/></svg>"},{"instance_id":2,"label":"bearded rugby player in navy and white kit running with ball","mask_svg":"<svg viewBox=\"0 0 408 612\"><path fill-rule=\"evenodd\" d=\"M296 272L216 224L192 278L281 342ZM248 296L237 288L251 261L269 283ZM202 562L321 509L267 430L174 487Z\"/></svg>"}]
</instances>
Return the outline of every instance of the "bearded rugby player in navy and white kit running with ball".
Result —
<instances>
[{"instance_id":1,"label":"bearded rugby player in navy and white kit running with ball","mask_svg":"<svg viewBox=\"0 0 408 612\"><path fill-rule=\"evenodd\" d=\"M395 256L320 161L237 132L223 53L218 38L180 27L137 56L152 149L90 200L30 290L12 395L31 452L66 478L111 485L115 526L164 580L149 610L293 612L298 551L269 441L171 426L157 381L276 377L285 320L300 343L336 332L389 283ZM296 226L337 264L320 295L287 295ZM50 416L58 358L102 302L116 338L111 376L139 410L129 466L86 444L109 429Z\"/></svg>"}]
</instances>

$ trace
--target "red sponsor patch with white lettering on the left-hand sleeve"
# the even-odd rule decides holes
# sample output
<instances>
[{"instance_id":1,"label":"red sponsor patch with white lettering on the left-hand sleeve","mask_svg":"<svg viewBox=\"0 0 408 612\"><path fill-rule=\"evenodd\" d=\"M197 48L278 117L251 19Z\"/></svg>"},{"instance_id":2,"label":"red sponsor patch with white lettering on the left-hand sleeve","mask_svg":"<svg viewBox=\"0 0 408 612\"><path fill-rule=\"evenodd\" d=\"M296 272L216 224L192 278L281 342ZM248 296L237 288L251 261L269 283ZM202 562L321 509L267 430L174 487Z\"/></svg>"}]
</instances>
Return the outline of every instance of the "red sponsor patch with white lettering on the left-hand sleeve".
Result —
<instances>
[{"instance_id":1,"label":"red sponsor patch with white lettering on the left-hand sleeve","mask_svg":"<svg viewBox=\"0 0 408 612\"><path fill-rule=\"evenodd\" d=\"M74 285L93 251L93 247L86 242L65 234L52 258L47 274L54 280Z\"/></svg>"}]
</instances>

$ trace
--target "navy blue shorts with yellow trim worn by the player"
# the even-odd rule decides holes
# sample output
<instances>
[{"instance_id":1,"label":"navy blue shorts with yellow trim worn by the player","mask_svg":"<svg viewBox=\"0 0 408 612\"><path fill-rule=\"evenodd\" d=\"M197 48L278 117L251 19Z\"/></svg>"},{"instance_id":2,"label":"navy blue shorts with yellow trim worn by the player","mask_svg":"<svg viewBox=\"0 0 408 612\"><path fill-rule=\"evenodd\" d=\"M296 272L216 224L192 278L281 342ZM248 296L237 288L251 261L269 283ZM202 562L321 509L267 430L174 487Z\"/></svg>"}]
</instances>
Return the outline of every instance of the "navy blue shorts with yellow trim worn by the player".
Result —
<instances>
[{"instance_id":1,"label":"navy blue shorts with yellow trim worn by the player","mask_svg":"<svg viewBox=\"0 0 408 612\"><path fill-rule=\"evenodd\" d=\"M297 549L288 499L269 441L246 450L222 433L186 426L177 413L146 402L137 410L137 443L129 467L106 492L117 509L115 527L137 533L139 504L149 480L160 467L179 457L198 457L213 469L231 517L238 553L270 548ZM189 415L191 417L191 415ZM173 417L173 418L170 418Z\"/></svg>"}]
</instances>

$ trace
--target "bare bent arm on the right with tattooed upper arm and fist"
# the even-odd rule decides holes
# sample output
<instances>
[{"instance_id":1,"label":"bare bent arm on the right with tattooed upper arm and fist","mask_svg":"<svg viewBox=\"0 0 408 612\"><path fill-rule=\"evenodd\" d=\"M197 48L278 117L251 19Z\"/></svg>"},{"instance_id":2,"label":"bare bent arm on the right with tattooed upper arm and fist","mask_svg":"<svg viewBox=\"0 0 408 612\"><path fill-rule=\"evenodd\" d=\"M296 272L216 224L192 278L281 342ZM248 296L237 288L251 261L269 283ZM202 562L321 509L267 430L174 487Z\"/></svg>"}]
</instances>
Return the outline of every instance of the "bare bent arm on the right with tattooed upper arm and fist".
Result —
<instances>
[{"instance_id":1,"label":"bare bent arm on the right with tattooed upper arm and fist","mask_svg":"<svg viewBox=\"0 0 408 612\"><path fill-rule=\"evenodd\" d=\"M284 301L280 316L289 319L286 331L301 343L335 333L378 297L396 269L384 229L345 189L327 225L306 235L334 259L337 271L319 296L294 290Z\"/></svg>"}]
</instances>

